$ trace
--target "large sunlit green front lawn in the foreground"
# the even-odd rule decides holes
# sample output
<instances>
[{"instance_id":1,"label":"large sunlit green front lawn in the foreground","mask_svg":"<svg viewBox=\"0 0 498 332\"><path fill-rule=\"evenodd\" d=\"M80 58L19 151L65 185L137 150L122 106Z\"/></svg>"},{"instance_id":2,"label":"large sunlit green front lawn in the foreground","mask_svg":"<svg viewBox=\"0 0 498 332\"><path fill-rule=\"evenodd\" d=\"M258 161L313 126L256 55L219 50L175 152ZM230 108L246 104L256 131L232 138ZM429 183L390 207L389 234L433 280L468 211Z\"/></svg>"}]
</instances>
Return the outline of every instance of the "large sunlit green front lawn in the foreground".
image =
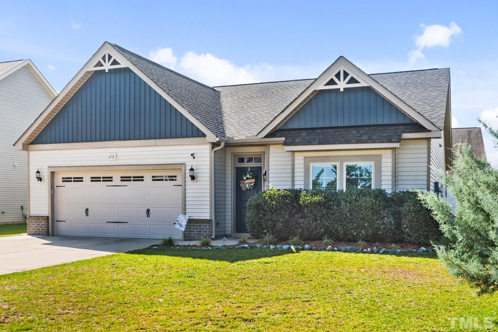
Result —
<instances>
[{"instance_id":1,"label":"large sunlit green front lawn in the foreground","mask_svg":"<svg viewBox=\"0 0 498 332\"><path fill-rule=\"evenodd\" d=\"M498 297L433 254L144 249L0 275L0 313L9 331L446 331L498 327Z\"/></svg>"}]
</instances>

